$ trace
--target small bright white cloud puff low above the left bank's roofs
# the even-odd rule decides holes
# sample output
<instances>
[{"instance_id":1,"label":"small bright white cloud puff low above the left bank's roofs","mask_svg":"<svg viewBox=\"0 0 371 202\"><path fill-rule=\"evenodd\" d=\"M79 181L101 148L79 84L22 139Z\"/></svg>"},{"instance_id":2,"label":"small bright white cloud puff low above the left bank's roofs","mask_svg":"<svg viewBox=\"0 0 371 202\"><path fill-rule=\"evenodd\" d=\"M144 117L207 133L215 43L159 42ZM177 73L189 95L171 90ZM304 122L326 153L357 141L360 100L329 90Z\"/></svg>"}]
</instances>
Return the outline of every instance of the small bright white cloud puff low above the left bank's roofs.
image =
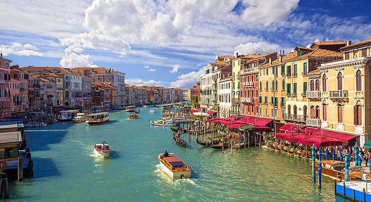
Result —
<instances>
[{"instance_id":1,"label":"small bright white cloud puff low above the left bank's roofs","mask_svg":"<svg viewBox=\"0 0 371 202\"><path fill-rule=\"evenodd\" d=\"M62 67L98 67L93 65L93 60L90 55L78 55L67 48L65 49L65 56L63 56L59 64Z\"/></svg>"}]
</instances>

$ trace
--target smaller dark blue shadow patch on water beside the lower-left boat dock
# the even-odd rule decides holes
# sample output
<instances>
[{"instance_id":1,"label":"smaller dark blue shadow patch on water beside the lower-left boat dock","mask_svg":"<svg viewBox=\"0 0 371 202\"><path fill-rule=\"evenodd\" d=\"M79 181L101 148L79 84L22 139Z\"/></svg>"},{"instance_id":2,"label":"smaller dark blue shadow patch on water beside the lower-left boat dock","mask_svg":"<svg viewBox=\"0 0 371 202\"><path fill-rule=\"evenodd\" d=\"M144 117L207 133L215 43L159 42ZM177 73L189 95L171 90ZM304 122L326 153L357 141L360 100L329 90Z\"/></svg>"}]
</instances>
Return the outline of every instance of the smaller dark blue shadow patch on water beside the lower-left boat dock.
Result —
<instances>
[{"instance_id":1,"label":"smaller dark blue shadow patch on water beside the lower-left boat dock","mask_svg":"<svg viewBox=\"0 0 371 202\"><path fill-rule=\"evenodd\" d=\"M51 158L33 157L34 177L50 177L60 175L58 168Z\"/></svg>"}]
</instances>

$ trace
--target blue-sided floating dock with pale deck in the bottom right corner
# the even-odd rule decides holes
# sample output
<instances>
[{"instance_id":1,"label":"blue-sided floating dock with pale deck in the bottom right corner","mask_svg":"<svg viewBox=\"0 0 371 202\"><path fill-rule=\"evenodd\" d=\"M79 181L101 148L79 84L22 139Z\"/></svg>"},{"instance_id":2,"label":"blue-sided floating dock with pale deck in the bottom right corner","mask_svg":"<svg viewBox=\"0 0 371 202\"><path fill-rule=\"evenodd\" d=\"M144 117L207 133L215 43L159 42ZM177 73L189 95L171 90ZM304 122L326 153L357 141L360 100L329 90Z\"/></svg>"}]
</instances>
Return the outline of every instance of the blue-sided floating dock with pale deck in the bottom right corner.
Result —
<instances>
[{"instance_id":1,"label":"blue-sided floating dock with pale deck in the bottom right corner","mask_svg":"<svg viewBox=\"0 0 371 202\"><path fill-rule=\"evenodd\" d=\"M335 194L355 202L371 202L371 182L367 187L366 181L336 183Z\"/></svg>"}]
</instances>

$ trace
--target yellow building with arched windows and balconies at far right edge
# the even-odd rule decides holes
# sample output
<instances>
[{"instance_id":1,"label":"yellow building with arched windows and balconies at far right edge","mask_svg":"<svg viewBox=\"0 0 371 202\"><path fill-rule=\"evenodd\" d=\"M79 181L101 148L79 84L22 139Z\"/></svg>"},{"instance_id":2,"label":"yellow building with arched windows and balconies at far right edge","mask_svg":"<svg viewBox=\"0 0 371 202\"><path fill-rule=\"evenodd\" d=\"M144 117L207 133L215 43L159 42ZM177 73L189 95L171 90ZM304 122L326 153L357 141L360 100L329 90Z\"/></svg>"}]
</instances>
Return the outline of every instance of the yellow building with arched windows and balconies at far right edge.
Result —
<instances>
[{"instance_id":1,"label":"yellow building with arched windows and balconies at far right edge","mask_svg":"<svg viewBox=\"0 0 371 202\"><path fill-rule=\"evenodd\" d=\"M363 145L371 136L371 39L340 48L343 60L321 70L322 128L357 135Z\"/></svg>"}]
</instances>

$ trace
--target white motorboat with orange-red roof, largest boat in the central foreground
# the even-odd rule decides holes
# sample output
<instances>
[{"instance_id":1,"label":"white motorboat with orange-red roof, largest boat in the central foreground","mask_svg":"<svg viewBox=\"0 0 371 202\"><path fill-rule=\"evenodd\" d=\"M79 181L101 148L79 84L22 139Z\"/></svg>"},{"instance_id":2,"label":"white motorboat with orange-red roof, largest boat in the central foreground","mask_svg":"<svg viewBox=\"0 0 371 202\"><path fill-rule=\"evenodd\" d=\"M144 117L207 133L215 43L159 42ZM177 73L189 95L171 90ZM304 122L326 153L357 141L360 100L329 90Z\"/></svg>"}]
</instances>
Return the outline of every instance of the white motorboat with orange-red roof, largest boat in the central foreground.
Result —
<instances>
[{"instance_id":1,"label":"white motorboat with orange-red roof, largest boat in the central foreground","mask_svg":"<svg viewBox=\"0 0 371 202\"><path fill-rule=\"evenodd\" d=\"M176 157L174 154L169 153L169 157L163 157L163 153L157 156L160 161L161 169L173 179L190 178L191 170L188 166Z\"/></svg>"}]
</instances>

